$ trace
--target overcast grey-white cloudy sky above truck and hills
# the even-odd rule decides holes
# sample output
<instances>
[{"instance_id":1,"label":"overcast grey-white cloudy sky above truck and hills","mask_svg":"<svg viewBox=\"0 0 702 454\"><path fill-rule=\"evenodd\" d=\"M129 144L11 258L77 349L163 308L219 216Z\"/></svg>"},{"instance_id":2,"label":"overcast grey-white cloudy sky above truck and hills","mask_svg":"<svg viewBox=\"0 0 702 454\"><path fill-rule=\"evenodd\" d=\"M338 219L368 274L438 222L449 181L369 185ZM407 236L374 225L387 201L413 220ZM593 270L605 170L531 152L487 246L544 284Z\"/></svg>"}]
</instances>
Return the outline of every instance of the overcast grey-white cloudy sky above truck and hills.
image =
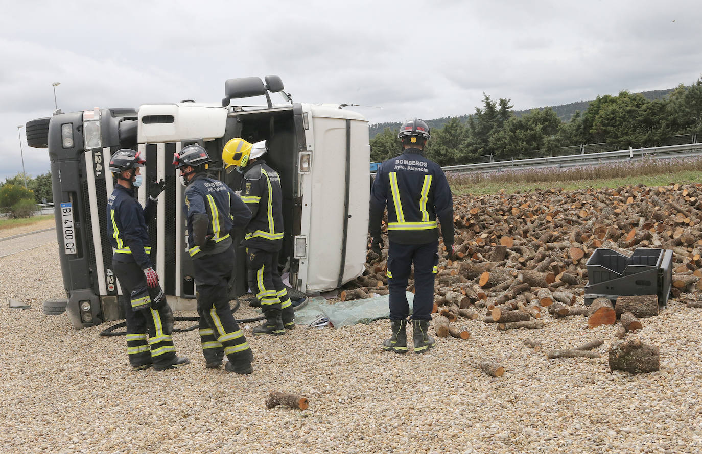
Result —
<instances>
[{"instance_id":1,"label":"overcast grey-white cloudy sky above truck and hills","mask_svg":"<svg viewBox=\"0 0 702 454\"><path fill-rule=\"evenodd\" d=\"M219 102L227 78L278 74L296 102L362 104L379 123L469 114L483 92L528 109L702 76L698 0L0 5L0 181L22 170L17 126L51 116L53 82L80 111ZM27 173L48 171L20 132Z\"/></svg>"}]
</instances>

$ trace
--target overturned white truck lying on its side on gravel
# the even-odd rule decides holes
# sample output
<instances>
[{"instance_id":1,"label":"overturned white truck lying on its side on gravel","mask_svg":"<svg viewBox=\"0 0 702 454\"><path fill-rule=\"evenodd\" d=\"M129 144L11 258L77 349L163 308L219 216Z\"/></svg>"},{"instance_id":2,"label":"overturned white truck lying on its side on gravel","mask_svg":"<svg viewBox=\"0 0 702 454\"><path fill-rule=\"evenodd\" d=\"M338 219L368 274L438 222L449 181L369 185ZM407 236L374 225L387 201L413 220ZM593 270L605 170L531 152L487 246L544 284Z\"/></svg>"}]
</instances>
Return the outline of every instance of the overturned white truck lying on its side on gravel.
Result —
<instances>
[{"instance_id":1,"label":"overturned white truck lying on its side on gravel","mask_svg":"<svg viewBox=\"0 0 702 454\"><path fill-rule=\"evenodd\" d=\"M272 104L269 93L283 95ZM265 96L265 105L232 105L232 99ZM44 132L44 133L43 133ZM30 137L31 135L31 137ZM27 123L30 146L51 158L56 233L67 314L76 328L124 318L112 271L105 206L112 153L128 148L146 156L145 181L163 178L155 221L149 226L151 258L173 308L195 308L192 261L185 251L185 188L173 153L199 143L215 160L211 170L239 189L241 176L221 166L224 144L234 137L266 140L269 163L284 193L284 246L280 265L291 286L312 294L361 275L366 259L369 203L369 130L366 119L339 104L292 102L277 76L234 78L218 104L143 104L138 109L92 109ZM143 203L147 184L140 187ZM238 245L238 240L234 239ZM244 254L237 254L232 294L246 291Z\"/></svg>"}]
</instances>

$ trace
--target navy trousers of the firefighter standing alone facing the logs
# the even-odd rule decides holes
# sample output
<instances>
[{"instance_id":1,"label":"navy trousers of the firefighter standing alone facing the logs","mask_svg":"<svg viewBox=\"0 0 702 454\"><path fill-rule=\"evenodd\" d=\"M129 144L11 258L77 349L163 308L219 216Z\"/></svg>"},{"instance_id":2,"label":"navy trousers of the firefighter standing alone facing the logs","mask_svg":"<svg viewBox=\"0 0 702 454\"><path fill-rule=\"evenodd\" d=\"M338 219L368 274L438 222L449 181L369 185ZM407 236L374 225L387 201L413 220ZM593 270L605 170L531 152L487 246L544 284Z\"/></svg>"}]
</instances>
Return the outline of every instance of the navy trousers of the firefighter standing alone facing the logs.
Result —
<instances>
[{"instance_id":1,"label":"navy trousers of the firefighter standing alone facing the logs","mask_svg":"<svg viewBox=\"0 0 702 454\"><path fill-rule=\"evenodd\" d=\"M401 245L390 241L388 249L388 287L390 289L390 319L404 320L409 315L407 281L414 264L413 320L432 319L434 307L434 278L439 264L439 241L424 245Z\"/></svg>"}]
</instances>

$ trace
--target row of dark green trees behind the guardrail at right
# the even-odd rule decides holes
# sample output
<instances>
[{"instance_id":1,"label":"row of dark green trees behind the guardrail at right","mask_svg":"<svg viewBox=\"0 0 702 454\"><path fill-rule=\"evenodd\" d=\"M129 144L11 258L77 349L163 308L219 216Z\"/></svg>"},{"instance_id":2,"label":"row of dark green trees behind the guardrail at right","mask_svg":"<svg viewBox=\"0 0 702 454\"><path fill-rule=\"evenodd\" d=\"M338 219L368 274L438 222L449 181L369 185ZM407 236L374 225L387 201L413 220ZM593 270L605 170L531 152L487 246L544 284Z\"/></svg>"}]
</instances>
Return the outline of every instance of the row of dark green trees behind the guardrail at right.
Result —
<instances>
[{"instance_id":1,"label":"row of dark green trees behind the guardrail at right","mask_svg":"<svg viewBox=\"0 0 702 454\"><path fill-rule=\"evenodd\" d=\"M550 108L516 116L510 99L484 95L483 106L466 121L451 118L425 154L439 165L460 165L494 155L497 160L551 156L565 146L607 142L611 149L661 146L674 135L702 136L702 78L680 85L668 97L648 100L628 91L598 96L568 122ZM371 160L380 162L401 149L397 130L385 128L371 139Z\"/></svg>"}]
</instances>

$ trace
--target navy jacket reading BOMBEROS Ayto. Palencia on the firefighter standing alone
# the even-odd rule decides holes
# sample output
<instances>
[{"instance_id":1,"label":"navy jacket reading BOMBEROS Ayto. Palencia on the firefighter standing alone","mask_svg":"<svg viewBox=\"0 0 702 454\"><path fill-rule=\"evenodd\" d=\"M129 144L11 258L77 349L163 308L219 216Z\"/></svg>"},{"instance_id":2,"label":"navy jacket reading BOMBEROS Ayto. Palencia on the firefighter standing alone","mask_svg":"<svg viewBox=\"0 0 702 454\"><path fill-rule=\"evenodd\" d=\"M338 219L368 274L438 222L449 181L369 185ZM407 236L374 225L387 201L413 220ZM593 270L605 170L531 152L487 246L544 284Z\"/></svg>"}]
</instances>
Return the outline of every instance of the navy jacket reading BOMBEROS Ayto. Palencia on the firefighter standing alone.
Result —
<instances>
[{"instance_id":1,"label":"navy jacket reading BOMBEROS Ayto. Palencia on the firefighter standing alone","mask_svg":"<svg viewBox=\"0 0 702 454\"><path fill-rule=\"evenodd\" d=\"M370 232L380 237L385 206L388 206L388 237L402 245L423 245L439 239L437 218L444 245L453 245L453 198L441 167L406 149L378 168L371 189Z\"/></svg>"}]
</instances>

